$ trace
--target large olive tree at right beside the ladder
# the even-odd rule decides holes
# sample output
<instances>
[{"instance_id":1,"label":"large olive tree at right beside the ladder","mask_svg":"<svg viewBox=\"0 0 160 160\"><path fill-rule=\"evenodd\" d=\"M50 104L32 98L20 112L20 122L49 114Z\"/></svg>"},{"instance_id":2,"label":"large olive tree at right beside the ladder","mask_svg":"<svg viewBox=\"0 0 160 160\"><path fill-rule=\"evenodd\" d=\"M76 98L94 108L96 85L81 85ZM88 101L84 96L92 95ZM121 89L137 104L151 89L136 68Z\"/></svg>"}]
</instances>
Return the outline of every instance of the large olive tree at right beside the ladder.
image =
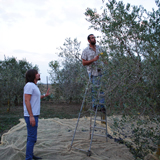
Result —
<instances>
[{"instance_id":1,"label":"large olive tree at right beside the ladder","mask_svg":"<svg viewBox=\"0 0 160 160\"><path fill-rule=\"evenodd\" d=\"M157 10L147 12L142 6L109 0L102 14L87 8L85 15L91 28L102 33L100 45L105 52L102 61L107 109L112 114L158 117L160 105L160 3ZM103 60L104 59L104 60ZM157 114L158 113L158 114ZM159 121L154 129L134 126L135 158L143 158L148 149L155 151ZM123 122L125 123L125 122ZM148 122L149 123L149 122ZM118 122L115 121L118 126ZM148 137L147 137L148 136ZM143 137L145 137L143 139ZM152 147L150 147L152 146ZM154 147L153 147L154 146Z\"/></svg>"}]
</instances>

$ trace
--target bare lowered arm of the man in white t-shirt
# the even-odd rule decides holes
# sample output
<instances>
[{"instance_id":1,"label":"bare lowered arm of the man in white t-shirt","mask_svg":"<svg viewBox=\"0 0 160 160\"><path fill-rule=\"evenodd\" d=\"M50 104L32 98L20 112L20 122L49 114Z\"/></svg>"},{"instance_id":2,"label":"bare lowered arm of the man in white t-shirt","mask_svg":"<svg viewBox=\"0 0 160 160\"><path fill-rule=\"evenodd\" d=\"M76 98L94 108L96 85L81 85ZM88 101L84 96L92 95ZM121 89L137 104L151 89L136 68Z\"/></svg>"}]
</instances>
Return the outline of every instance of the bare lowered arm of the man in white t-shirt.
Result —
<instances>
[{"instance_id":1,"label":"bare lowered arm of the man in white t-shirt","mask_svg":"<svg viewBox=\"0 0 160 160\"><path fill-rule=\"evenodd\" d=\"M36 122L35 122L35 119L34 119L34 116L33 116L33 113L32 113L32 108L31 108L31 103L30 103L31 96L32 96L31 94L25 94L24 95L25 104L26 104L27 111L28 111L28 114L29 114L30 124L31 124L32 127L34 127L36 125Z\"/></svg>"}]
</instances>

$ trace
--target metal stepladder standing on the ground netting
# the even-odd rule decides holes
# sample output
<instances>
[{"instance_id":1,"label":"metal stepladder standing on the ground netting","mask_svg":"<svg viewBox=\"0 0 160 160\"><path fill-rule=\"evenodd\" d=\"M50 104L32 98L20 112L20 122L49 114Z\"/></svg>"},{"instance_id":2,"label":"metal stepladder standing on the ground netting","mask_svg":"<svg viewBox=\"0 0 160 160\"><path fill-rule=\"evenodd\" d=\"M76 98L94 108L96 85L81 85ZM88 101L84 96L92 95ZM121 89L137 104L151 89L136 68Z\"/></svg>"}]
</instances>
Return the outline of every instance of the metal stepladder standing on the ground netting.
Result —
<instances>
[{"instance_id":1,"label":"metal stepladder standing on the ground netting","mask_svg":"<svg viewBox=\"0 0 160 160\"><path fill-rule=\"evenodd\" d=\"M107 133L107 112L106 112L106 106L103 104L104 107L105 107L105 113L101 113L101 115L104 114L103 115L103 116L105 116L104 119L102 119L102 116L101 116L101 119L97 119L97 113L99 112L99 107L96 107L95 110L93 110L92 106L91 106L92 112L90 112L90 133L89 133L90 134L90 145L89 145L89 149L88 150L84 150L84 149L80 149L80 148L77 148L77 147L73 147L73 141L74 141L74 138L75 138L75 134L76 134L76 130L77 130L77 127L78 127L79 120L80 120L80 116L81 116L81 113L82 113L83 108L84 108L85 99L86 99L87 93L89 93L89 89L91 87L93 87L93 85L91 84L91 82L89 80L88 83L87 83L86 89L85 89L84 96L83 96L83 101L82 101L82 104L81 104L80 112L79 112L79 115L78 115L75 131L74 131L74 134L73 134L73 138L72 138L72 142L71 142L71 147L70 147L70 150L72 148L74 148L74 149L77 149L77 150L80 150L80 151L87 152L87 156L91 156L91 146L92 146L93 136L105 137L106 138L106 142L108 141L107 140L108 133ZM97 85L97 86L94 86L94 87L98 88L98 90L97 90L97 106L98 106L98 105L101 105L99 103L99 99L100 99L100 96L101 96L100 95L101 85ZM93 113L94 113L94 117L92 117ZM105 127L97 127L96 126L96 121L101 121L101 123L105 123L106 124ZM92 124L92 122L93 122L93 124ZM105 130L105 135L95 134L94 133L95 129Z\"/></svg>"}]
</instances>

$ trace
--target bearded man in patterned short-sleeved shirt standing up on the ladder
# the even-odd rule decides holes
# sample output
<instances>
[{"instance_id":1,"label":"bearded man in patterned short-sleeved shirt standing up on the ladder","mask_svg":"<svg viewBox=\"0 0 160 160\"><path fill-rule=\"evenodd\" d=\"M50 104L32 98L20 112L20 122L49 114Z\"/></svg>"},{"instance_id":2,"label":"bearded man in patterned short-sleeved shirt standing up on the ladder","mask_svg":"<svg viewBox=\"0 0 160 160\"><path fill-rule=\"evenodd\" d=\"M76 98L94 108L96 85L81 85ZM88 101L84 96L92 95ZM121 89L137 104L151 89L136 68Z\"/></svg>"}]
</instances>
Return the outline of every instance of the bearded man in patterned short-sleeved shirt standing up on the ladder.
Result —
<instances>
[{"instance_id":1,"label":"bearded man in patterned short-sleeved shirt standing up on the ladder","mask_svg":"<svg viewBox=\"0 0 160 160\"><path fill-rule=\"evenodd\" d=\"M101 63L98 61L99 59L99 54L101 53L101 48L96 45L96 38L93 34L88 35L88 42L89 46L85 48L82 52L82 64L84 66L87 66L87 72L89 74L89 79L93 86L95 85L100 85L101 77L102 77L102 70L98 68L99 64ZM95 87L92 87L92 108L96 110L96 107L98 107L98 110L105 112L105 107L104 107L104 93L100 92L102 97L99 99L100 105L97 106L96 104L96 89Z\"/></svg>"}]
</instances>

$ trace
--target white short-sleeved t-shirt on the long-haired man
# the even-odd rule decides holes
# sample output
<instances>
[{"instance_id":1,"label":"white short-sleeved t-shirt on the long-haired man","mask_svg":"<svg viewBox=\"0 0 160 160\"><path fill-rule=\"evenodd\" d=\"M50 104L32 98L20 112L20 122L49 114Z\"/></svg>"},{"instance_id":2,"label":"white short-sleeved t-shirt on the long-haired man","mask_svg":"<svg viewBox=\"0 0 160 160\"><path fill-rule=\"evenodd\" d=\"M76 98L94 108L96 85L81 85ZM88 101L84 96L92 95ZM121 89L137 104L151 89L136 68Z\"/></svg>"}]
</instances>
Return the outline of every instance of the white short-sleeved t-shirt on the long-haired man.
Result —
<instances>
[{"instance_id":1,"label":"white short-sleeved t-shirt on the long-haired man","mask_svg":"<svg viewBox=\"0 0 160 160\"><path fill-rule=\"evenodd\" d=\"M34 116L40 115L40 99L41 99L41 93L39 88L37 87L36 84L33 82L28 82L24 86L24 93L23 93L23 109L24 109L24 116L29 117L26 104L25 104L25 94L30 94L31 95L31 108L32 108L32 113Z\"/></svg>"}]
</instances>

